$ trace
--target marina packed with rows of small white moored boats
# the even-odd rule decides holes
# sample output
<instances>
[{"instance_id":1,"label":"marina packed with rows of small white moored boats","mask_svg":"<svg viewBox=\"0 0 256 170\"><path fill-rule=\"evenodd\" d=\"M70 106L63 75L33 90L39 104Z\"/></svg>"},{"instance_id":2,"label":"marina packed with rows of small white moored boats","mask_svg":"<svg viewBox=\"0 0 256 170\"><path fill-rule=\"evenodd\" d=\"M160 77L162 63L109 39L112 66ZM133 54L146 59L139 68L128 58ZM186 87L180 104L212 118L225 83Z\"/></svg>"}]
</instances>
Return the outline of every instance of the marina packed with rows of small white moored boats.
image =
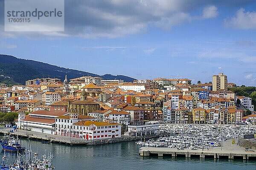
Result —
<instances>
[{"instance_id":1,"label":"marina packed with rows of small white moored boats","mask_svg":"<svg viewBox=\"0 0 256 170\"><path fill-rule=\"evenodd\" d=\"M249 126L215 126L215 125L160 125L160 133L166 134L156 140L138 141L143 147L168 147L177 150L209 150L223 147L223 142L232 139L238 144L246 135L255 134L256 129ZM167 135L169 134L169 135ZM254 138L254 136L253 136Z\"/></svg>"}]
</instances>

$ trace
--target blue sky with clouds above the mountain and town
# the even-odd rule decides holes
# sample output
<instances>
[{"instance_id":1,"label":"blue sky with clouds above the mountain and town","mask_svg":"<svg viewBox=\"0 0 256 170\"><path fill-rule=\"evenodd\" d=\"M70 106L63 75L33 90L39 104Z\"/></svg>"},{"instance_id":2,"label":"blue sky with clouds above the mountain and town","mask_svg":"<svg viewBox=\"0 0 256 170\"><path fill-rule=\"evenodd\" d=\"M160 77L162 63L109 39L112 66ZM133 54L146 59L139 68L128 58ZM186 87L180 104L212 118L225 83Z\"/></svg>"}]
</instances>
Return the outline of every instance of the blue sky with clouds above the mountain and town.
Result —
<instances>
[{"instance_id":1,"label":"blue sky with clouds above the mountain and town","mask_svg":"<svg viewBox=\"0 0 256 170\"><path fill-rule=\"evenodd\" d=\"M255 0L65 0L65 31L4 31L0 54L94 74L256 86Z\"/></svg>"}]
</instances>

